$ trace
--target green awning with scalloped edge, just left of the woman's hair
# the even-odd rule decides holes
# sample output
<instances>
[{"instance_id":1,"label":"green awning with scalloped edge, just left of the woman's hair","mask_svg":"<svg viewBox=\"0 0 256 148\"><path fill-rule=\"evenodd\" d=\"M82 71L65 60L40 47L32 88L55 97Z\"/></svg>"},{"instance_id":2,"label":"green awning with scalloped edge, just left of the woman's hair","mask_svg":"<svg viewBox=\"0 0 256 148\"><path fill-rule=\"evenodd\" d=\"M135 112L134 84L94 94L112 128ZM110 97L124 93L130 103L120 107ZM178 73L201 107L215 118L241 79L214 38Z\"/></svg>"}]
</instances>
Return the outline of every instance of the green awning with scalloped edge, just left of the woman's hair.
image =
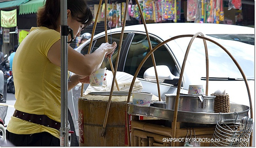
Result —
<instances>
[{"instance_id":1,"label":"green awning with scalloped edge, just left of the woman's hair","mask_svg":"<svg viewBox=\"0 0 256 148\"><path fill-rule=\"evenodd\" d=\"M45 0L29 0L29 2L20 5L19 14L32 14L38 11L39 7L44 6Z\"/></svg>"}]
</instances>

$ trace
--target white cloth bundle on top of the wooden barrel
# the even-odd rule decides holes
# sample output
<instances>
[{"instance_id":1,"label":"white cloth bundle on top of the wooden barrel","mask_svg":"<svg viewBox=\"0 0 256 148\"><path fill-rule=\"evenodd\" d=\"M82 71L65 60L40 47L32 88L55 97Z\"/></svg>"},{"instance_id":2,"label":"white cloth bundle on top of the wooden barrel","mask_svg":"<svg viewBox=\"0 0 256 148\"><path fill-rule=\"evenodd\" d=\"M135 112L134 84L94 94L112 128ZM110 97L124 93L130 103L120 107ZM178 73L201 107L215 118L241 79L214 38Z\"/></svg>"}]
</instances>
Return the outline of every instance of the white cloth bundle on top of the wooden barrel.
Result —
<instances>
[{"instance_id":1,"label":"white cloth bundle on top of the wooden barrel","mask_svg":"<svg viewBox=\"0 0 256 148\"><path fill-rule=\"evenodd\" d=\"M112 86L112 81L113 81L113 73L110 70L106 70L106 73L107 73L107 75L105 76L106 80L103 81L102 86L101 87L93 87L93 86L89 85L87 87L87 89L85 90L84 95L87 95L89 92L111 91L111 86ZM117 81L120 91L128 91L131 87L131 81L133 78L134 78L133 75L117 71L116 72L116 81ZM138 80L136 78L132 91L140 92L140 91L142 91L142 89L143 89L142 83L140 82L140 80ZM114 84L113 91L117 91L116 84Z\"/></svg>"}]
</instances>

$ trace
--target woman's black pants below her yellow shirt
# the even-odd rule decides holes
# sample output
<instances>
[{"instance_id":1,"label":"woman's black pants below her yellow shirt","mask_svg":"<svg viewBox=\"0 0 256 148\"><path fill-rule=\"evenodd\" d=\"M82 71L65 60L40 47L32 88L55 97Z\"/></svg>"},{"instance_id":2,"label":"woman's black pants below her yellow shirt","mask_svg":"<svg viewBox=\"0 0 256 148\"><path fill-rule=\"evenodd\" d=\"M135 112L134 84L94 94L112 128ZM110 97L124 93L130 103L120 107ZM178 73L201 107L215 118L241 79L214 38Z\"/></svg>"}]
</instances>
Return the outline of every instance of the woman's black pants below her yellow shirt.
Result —
<instances>
[{"instance_id":1,"label":"woman's black pants below her yellow shirt","mask_svg":"<svg viewBox=\"0 0 256 148\"><path fill-rule=\"evenodd\" d=\"M15 146L60 146L60 140L48 132L14 134L6 130L6 141Z\"/></svg>"}]
</instances>

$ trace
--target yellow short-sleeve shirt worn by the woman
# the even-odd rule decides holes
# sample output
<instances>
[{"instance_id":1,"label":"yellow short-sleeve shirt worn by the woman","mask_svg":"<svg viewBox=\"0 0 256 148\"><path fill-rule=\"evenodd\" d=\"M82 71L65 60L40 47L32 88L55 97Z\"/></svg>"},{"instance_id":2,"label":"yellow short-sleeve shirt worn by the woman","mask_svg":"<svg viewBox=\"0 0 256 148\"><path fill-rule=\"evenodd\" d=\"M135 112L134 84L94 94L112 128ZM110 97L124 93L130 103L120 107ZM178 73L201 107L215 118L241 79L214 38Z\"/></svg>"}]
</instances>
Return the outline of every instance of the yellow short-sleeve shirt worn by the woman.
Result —
<instances>
[{"instance_id":1,"label":"yellow short-sleeve shirt worn by the woman","mask_svg":"<svg viewBox=\"0 0 256 148\"><path fill-rule=\"evenodd\" d=\"M58 31L32 27L20 43L13 59L15 109L31 114L45 114L61 122L61 68L47 58L50 47L60 40ZM54 128L11 117L7 130L15 134L47 131L55 137Z\"/></svg>"}]
</instances>

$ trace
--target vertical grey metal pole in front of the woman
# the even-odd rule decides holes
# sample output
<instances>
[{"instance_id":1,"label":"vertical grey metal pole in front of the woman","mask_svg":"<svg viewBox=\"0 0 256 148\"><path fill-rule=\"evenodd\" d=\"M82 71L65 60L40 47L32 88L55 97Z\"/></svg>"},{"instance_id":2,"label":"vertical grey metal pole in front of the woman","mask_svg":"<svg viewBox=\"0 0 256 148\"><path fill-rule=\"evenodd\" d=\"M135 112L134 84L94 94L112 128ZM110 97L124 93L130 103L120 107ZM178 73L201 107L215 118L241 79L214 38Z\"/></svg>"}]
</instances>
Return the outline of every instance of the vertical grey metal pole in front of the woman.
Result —
<instances>
[{"instance_id":1,"label":"vertical grey metal pole in front of the woman","mask_svg":"<svg viewBox=\"0 0 256 148\"><path fill-rule=\"evenodd\" d=\"M67 0L61 0L61 26L67 26ZM60 145L68 146L67 127L67 36L61 34L61 137Z\"/></svg>"}]
</instances>

